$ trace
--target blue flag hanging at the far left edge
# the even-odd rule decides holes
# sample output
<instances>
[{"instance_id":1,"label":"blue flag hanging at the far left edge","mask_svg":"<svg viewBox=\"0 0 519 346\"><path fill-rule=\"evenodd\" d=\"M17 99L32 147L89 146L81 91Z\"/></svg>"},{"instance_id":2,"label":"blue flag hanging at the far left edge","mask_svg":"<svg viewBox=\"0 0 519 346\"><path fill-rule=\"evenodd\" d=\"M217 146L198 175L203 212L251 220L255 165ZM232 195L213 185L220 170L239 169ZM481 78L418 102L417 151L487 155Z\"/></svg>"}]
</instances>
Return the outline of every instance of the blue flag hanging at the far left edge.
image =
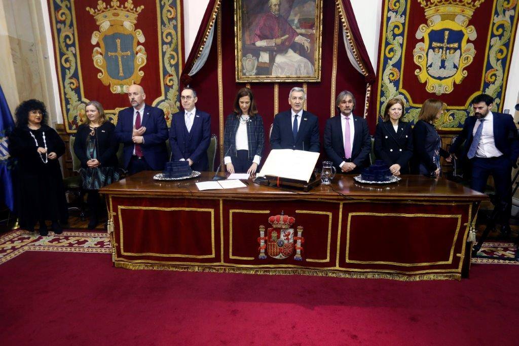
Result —
<instances>
[{"instance_id":1,"label":"blue flag hanging at the far left edge","mask_svg":"<svg viewBox=\"0 0 519 346\"><path fill-rule=\"evenodd\" d=\"M12 189L8 136L14 128L15 122L0 85L0 201L11 210L15 208L15 195Z\"/></svg>"}]
</instances>

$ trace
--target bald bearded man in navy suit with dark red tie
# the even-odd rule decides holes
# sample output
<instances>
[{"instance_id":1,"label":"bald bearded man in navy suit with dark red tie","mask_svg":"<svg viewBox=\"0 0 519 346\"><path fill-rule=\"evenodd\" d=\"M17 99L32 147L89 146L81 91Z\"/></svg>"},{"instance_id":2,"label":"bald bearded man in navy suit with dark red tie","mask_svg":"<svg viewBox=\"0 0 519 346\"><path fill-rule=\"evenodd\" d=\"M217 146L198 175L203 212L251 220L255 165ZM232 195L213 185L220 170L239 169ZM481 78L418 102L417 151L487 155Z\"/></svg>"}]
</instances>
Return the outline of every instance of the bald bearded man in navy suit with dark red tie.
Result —
<instances>
[{"instance_id":1,"label":"bald bearded man in navy suit with dark red tie","mask_svg":"<svg viewBox=\"0 0 519 346\"><path fill-rule=\"evenodd\" d=\"M119 112L115 126L115 137L124 144L124 167L130 175L142 170L162 170L168 155L164 112L144 103L146 94L140 85L130 85L128 98L132 107Z\"/></svg>"}]
</instances>

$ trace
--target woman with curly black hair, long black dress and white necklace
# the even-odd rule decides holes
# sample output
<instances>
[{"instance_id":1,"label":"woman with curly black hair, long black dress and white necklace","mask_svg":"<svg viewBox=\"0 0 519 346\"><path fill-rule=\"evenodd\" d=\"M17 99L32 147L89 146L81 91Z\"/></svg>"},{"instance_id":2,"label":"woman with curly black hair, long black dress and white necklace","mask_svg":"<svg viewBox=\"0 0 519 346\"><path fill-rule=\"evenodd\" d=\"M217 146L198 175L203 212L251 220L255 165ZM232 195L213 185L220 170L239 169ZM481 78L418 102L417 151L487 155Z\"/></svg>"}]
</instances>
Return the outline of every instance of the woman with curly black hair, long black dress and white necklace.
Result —
<instances>
[{"instance_id":1,"label":"woman with curly black hair, long black dress and white necklace","mask_svg":"<svg viewBox=\"0 0 519 346\"><path fill-rule=\"evenodd\" d=\"M9 152L16 159L15 191L20 227L48 235L63 232L60 225L69 218L65 188L58 158L65 153L65 143L58 132L47 125L47 109L42 101L27 100L15 111L16 128L9 136Z\"/></svg>"}]
</instances>

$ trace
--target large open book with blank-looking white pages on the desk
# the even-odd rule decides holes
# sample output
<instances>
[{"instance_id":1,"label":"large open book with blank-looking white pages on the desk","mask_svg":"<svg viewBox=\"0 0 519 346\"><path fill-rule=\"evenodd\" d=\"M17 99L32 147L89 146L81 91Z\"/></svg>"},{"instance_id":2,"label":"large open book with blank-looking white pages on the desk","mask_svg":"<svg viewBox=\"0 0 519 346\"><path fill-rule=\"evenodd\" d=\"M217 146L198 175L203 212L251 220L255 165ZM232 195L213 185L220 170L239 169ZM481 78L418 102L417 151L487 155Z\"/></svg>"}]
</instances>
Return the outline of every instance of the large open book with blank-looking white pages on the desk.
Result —
<instances>
[{"instance_id":1,"label":"large open book with blank-looking white pages on the desk","mask_svg":"<svg viewBox=\"0 0 519 346\"><path fill-rule=\"evenodd\" d=\"M319 153L292 149L272 149L257 175L310 181Z\"/></svg>"}]
</instances>

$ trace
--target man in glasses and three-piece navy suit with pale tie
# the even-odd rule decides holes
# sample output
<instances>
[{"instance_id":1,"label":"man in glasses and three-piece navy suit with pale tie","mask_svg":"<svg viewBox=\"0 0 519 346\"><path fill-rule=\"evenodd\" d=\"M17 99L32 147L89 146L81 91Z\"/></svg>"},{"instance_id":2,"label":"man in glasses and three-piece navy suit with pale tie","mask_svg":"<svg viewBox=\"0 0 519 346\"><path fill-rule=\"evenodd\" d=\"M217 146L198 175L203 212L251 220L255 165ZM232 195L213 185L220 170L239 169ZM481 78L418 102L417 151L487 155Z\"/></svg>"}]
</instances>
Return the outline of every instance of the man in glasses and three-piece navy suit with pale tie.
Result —
<instances>
[{"instance_id":1,"label":"man in glasses and three-piece navy suit with pale tie","mask_svg":"<svg viewBox=\"0 0 519 346\"><path fill-rule=\"evenodd\" d=\"M171 161L189 162L193 170L207 171L207 149L211 141L211 117L196 109L196 91L184 88L180 94L183 111L173 114L169 129Z\"/></svg>"}]
</instances>

